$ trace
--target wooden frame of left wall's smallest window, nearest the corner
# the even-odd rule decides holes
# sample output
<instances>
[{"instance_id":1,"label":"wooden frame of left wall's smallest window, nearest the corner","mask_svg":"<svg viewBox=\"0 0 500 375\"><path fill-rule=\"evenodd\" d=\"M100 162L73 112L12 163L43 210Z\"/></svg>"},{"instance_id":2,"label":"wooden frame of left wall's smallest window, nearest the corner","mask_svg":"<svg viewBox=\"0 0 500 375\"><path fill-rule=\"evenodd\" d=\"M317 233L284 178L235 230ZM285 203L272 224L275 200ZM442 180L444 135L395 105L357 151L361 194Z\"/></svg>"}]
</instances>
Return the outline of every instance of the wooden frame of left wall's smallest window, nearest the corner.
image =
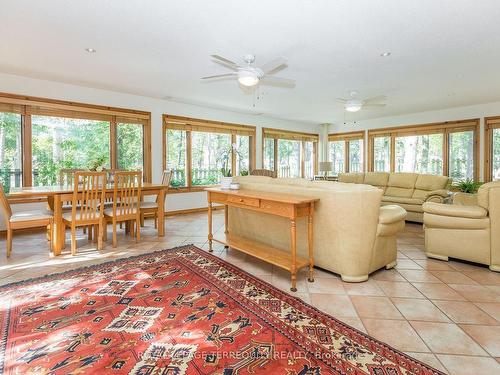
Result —
<instances>
[{"instance_id":1,"label":"wooden frame of left wall's smallest window, nearest the corner","mask_svg":"<svg viewBox=\"0 0 500 375\"><path fill-rule=\"evenodd\" d=\"M262 128L262 165L264 165L264 156L265 156L265 140L272 139L273 140L273 151L274 151L274 165L273 171L278 173L278 140L289 140L289 141L300 141L300 177L305 177L305 150L306 144L305 142L312 142L313 144L313 178L318 174L318 142L319 142L319 134L315 133L305 133L305 132L296 132L291 130L283 130L276 128Z\"/></svg>"}]
</instances>

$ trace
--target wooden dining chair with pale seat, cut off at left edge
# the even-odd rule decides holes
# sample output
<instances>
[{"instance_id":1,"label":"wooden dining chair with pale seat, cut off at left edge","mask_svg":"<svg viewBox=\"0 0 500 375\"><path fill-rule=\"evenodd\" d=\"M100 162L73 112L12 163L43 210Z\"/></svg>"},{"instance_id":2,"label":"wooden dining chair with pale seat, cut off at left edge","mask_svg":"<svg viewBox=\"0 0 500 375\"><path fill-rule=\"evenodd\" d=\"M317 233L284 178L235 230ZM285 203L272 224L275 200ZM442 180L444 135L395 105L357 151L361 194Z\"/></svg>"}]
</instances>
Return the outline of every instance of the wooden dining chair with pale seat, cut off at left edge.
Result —
<instances>
[{"instance_id":1,"label":"wooden dining chair with pale seat, cut off at left edge","mask_svg":"<svg viewBox=\"0 0 500 375\"><path fill-rule=\"evenodd\" d=\"M2 208L5 225L7 227L7 257L10 257L12 252L12 234L15 229L47 227L49 230L48 240L52 241L52 228L54 227L52 225L54 220L52 211L24 211L13 214L1 183L0 206ZM49 244L52 244L52 242L49 242Z\"/></svg>"}]
</instances>

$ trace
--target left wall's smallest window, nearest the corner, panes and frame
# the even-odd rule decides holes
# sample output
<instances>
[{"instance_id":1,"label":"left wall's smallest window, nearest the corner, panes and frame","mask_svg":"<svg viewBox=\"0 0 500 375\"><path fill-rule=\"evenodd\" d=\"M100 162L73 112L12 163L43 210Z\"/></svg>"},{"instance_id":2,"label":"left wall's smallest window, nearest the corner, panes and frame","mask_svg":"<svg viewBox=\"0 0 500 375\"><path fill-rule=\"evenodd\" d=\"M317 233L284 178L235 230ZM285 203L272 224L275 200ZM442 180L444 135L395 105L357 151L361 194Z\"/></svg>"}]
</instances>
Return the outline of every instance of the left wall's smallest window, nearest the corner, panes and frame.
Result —
<instances>
[{"instance_id":1,"label":"left wall's smallest window, nearest the corner, panes and frame","mask_svg":"<svg viewBox=\"0 0 500 375\"><path fill-rule=\"evenodd\" d=\"M317 134L262 129L264 169L278 177L313 178L317 171Z\"/></svg>"}]
</instances>

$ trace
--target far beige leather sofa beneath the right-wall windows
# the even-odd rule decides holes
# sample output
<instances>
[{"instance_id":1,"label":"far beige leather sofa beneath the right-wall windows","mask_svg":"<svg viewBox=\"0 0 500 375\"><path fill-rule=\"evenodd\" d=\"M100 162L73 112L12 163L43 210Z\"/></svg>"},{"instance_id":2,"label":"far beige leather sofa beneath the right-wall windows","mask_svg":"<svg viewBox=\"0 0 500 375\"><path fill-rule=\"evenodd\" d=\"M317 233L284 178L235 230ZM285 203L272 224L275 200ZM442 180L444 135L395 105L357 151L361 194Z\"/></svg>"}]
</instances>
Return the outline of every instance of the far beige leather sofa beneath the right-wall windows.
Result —
<instances>
[{"instance_id":1,"label":"far beige leather sofa beneath the right-wall windows","mask_svg":"<svg viewBox=\"0 0 500 375\"><path fill-rule=\"evenodd\" d=\"M382 205L397 204L408 212L406 220L418 223L423 221L424 202L443 203L451 186L449 177L419 173L340 173L339 182L382 189Z\"/></svg>"}]
</instances>

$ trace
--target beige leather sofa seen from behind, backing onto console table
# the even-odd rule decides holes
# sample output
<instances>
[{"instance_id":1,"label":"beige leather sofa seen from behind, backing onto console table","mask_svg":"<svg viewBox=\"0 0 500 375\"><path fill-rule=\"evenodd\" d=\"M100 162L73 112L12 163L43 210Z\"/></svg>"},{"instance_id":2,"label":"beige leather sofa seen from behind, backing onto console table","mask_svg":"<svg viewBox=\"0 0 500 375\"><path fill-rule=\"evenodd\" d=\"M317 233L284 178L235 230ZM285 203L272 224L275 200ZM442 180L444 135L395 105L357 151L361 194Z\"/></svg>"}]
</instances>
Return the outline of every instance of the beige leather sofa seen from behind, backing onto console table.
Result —
<instances>
[{"instance_id":1,"label":"beige leather sofa seen from behind, backing onto console table","mask_svg":"<svg viewBox=\"0 0 500 375\"><path fill-rule=\"evenodd\" d=\"M245 176L235 178L242 189L318 197L314 215L314 262L338 273L342 280L361 282L382 267L396 265L396 234L404 228L405 210L380 207L382 191L372 186ZM290 248L290 222L285 218L229 209L229 232ZM306 256L306 220L297 222L298 254Z\"/></svg>"}]
</instances>

